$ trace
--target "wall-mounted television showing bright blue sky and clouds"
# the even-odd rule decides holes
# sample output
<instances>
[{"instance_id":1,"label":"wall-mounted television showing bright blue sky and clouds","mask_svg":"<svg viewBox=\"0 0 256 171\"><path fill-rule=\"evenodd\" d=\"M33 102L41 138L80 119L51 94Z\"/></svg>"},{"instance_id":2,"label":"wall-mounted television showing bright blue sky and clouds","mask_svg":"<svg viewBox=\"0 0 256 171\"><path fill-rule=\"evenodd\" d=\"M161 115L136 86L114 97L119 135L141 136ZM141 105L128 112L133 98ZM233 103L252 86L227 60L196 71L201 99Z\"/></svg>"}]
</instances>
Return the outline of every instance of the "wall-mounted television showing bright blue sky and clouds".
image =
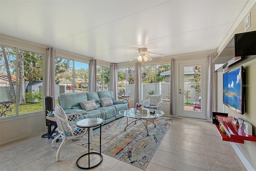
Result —
<instances>
[{"instance_id":1,"label":"wall-mounted television showing bright blue sky and clouds","mask_svg":"<svg viewBox=\"0 0 256 171\"><path fill-rule=\"evenodd\" d=\"M223 74L223 103L240 114L244 114L243 81L243 66Z\"/></svg>"}]
</instances>

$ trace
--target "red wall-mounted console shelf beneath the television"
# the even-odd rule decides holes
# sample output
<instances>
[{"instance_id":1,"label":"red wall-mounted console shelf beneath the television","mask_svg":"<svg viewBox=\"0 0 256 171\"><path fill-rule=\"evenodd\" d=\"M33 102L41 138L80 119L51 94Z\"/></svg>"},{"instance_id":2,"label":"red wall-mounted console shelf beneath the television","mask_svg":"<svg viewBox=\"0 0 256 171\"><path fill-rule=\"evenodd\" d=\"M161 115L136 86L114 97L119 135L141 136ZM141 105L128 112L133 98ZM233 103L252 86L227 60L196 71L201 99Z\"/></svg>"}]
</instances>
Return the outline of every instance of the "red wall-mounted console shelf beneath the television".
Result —
<instances>
[{"instance_id":1,"label":"red wall-mounted console shelf beneath the television","mask_svg":"<svg viewBox=\"0 0 256 171\"><path fill-rule=\"evenodd\" d=\"M219 125L216 125L216 128L218 129L218 133L220 134L220 137L223 141L231 141L235 143L244 143L244 140L246 141L255 141L256 142L256 136L255 135L246 135L244 134L244 130L242 127L236 126L233 121L232 116L216 116L222 127L225 129L226 133L223 133L220 130Z\"/></svg>"}]
</instances>

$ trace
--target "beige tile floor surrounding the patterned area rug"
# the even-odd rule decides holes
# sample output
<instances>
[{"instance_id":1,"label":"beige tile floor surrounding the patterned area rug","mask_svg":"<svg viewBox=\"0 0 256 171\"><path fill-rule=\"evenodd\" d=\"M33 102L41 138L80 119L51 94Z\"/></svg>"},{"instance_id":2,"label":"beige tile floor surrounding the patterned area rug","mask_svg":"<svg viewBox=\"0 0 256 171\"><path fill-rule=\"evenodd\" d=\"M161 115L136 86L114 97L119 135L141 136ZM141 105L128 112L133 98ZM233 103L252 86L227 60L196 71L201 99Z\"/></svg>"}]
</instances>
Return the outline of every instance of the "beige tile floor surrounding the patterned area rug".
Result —
<instances>
[{"instance_id":1,"label":"beige tile floor surrounding the patterned area rug","mask_svg":"<svg viewBox=\"0 0 256 171\"><path fill-rule=\"evenodd\" d=\"M154 153L145 171L246 171L229 142L222 141L211 122L173 118L170 129ZM40 133L0 145L1 171L62 171L82 170L76 160L87 148L68 142L64 145L60 161L56 162L56 147L51 139ZM90 166L100 157L90 157ZM87 157L80 165L86 166ZM82 164L84 163L84 164ZM142 171L142 169L103 154L103 161L91 170L95 171Z\"/></svg>"}]
</instances>

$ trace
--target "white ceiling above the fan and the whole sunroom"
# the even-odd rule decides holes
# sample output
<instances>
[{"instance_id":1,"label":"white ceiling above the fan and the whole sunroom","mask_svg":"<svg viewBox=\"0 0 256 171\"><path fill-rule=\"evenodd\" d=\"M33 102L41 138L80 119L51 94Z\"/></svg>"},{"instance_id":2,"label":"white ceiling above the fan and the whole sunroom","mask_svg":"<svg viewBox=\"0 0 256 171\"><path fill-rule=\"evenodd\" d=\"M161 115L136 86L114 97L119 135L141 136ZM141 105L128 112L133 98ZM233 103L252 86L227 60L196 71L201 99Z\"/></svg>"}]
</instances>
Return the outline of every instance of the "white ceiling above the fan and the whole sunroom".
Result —
<instances>
[{"instance_id":1,"label":"white ceiling above the fan and the whole sunroom","mask_svg":"<svg viewBox=\"0 0 256 171\"><path fill-rule=\"evenodd\" d=\"M0 33L120 63L133 59L143 47L165 56L216 50L246 3L248 0L0 0Z\"/></svg>"}]
</instances>

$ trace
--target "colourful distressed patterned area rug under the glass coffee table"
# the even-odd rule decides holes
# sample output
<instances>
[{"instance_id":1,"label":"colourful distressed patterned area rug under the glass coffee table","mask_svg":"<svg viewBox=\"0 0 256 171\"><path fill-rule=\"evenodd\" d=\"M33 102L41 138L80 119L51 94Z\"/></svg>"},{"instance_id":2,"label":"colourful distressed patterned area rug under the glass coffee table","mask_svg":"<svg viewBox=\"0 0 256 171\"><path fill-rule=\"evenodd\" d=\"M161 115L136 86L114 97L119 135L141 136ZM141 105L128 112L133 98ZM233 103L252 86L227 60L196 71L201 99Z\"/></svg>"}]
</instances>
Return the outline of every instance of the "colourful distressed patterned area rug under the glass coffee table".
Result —
<instances>
[{"instance_id":1,"label":"colourful distressed patterned area rug under the glass coffee table","mask_svg":"<svg viewBox=\"0 0 256 171\"><path fill-rule=\"evenodd\" d=\"M128 123L133 119L128 118ZM126 127L126 117L121 117L102 126L101 152L145 169L168 131L173 119L159 117L154 124L148 121L148 133L142 121L132 123ZM145 121L146 123L146 121ZM94 150L99 151L100 128L93 130ZM72 140L72 142L88 147L88 140Z\"/></svg>"}]
</instances>

